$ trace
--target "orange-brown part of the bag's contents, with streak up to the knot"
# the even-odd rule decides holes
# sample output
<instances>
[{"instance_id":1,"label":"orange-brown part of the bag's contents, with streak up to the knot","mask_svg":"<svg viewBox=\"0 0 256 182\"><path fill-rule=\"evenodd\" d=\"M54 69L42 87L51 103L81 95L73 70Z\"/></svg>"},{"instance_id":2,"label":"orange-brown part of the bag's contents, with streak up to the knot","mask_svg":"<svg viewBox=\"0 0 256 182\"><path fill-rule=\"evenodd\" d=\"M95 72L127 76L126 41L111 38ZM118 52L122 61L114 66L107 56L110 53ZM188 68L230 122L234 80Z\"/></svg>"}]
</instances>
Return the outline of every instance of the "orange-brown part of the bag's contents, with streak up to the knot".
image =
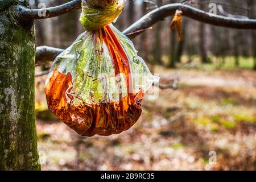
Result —
<instances>
[{"instance_id":1,"label":"orange-brown part of the bag's contents, with streak up to the knot","mask_svg":"<svg viewBox=\"0 0 256 182\"><path fill-rule=\"evenodd\" d=\"M129 59L112 29L105 26L94 34L100 35L108 47L115 75L126 75L127 96L120 96L118 102L88 104L81 101L79 105L73 104L75 96L70 94L73 88L72 75L65 75L56 68L45 87L49 110L77 133L87 137L119 134L130 129L141 115L143 98L142 90L139 93L132 92Z\"/></svg>"}]
</instances>

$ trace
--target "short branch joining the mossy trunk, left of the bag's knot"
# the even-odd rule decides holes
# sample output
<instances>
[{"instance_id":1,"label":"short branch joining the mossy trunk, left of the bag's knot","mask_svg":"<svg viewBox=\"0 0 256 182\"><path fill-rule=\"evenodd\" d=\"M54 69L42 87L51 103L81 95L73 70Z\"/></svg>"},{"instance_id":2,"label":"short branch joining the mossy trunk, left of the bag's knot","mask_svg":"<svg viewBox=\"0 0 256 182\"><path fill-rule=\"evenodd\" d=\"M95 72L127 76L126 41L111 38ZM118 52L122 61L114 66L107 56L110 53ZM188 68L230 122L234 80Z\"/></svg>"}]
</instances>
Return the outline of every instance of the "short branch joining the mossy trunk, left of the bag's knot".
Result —
<instances>
[{"instance_id":1,"label":"short branch joining the mossy trunk, left of the bag's knot","mask_svg":"<svg viewBox=\"0 0 256 182\"><path fill-rule=\"evenodd\" d=\"M81 9L81 0L73 0L71 2L65 3L60 6L49 7L46 9L28 9L24 6L16 6L19 18L23 20L33 20L33 19L46 19L55 16L60 16L71 11ZM45 13L45 16L43 16Z\"/></svg>"}]
</instances>

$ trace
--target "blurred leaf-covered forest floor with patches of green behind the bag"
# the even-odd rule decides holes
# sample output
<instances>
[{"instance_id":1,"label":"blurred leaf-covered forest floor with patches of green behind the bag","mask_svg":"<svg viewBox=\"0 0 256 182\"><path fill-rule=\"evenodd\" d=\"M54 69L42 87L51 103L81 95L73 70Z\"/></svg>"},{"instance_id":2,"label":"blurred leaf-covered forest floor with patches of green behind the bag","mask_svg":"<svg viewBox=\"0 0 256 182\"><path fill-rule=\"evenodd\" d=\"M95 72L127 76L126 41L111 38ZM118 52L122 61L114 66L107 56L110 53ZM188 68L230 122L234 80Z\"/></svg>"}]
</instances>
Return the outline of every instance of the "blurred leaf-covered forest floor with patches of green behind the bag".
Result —
<instances>
[{"instance_id":1,"label":"blurred leaf-covered forest floor with patches of green behind the bag","mask_svg":"<svg viewBox=\"0 0 256 182\"><path fill-rule=\"evenodd\" d=\"M177 75L179 88L145 98L139 121L119 135L80 137L38 111L42 169L256 169L255 71L157 67L155 73L162 82ZM43 97L37 93L38 101Z\"/></svg>"}]
</instances>

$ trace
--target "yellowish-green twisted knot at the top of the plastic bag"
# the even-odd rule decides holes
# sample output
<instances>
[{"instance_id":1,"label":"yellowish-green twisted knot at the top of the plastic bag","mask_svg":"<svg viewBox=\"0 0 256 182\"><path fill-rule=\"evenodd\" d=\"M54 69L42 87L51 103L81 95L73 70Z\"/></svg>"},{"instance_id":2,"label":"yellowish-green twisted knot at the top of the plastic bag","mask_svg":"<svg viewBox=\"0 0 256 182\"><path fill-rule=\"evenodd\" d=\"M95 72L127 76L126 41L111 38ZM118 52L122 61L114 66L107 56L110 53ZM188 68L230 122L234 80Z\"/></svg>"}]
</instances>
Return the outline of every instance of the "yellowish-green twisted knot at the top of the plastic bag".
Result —
<instances>
[{"instance_id":1,"label":"yellowish-green twisted knot at the top of the plastic bag","mask_svg":"<svg viewBox=\"0 0 256 182\"><path fill-rule=\"evenodd\" d=\"M96 31L115 21L126 0L82 0L80 22L85 30Z\"/></svg>"}]
</instances>

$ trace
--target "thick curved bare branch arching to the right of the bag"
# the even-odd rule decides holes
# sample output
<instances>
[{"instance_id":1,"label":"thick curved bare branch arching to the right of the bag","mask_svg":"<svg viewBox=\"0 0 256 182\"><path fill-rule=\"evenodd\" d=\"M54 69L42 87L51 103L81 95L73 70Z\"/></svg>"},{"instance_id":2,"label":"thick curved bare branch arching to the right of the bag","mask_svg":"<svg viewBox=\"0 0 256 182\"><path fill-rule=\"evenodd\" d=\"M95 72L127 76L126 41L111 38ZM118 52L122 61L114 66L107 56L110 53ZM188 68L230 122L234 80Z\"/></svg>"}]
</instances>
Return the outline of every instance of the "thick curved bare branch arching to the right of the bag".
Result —
<instances>
[{"instance_id":1,"label":"thick curved bare branch arching to the right of the bag","mask_svg":"<svg viewBox=\"0 0 256 182\"><path fill-rule=\"evenodd\" d=\"M183 11L183 15L187 16L188 18L198 20L199 22L212 24L214 26L240 29L256 29L256 19L232 18L209 14L203 10L196 9L195 7L183 5L181 3L173 3L161 6L144 15L137 22L126 28L123 33L129 34L129 38L134 38L135 36L142 33L142 31L139 30L145 30L159 20L162 20L167 16L174 15L177 9ZM132 32L134 32L134 34L131 34Z\"/></svg>"}]
</instances>

